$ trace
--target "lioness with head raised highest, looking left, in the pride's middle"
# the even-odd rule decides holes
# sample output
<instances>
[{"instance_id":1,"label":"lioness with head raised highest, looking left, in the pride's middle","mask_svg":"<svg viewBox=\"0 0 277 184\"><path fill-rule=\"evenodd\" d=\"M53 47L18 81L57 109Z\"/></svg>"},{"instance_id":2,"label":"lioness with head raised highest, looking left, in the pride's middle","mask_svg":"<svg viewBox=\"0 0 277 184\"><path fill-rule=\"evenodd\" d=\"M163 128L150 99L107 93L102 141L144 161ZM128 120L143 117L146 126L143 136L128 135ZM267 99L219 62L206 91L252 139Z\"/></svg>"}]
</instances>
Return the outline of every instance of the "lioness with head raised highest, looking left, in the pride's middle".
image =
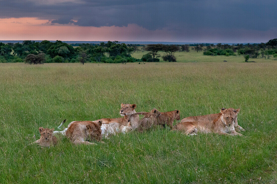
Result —
<instances>
[{"instance_id":1,"label":"lioness with head raised highest, looking left, in the pride's middle","mask_svg":"<svg viewBox=\"0 0 277 184\"><path fill-rule=\"evenodd\" d=\"M102 124L119 123L120 125L124 126L127 126L128 122L130 122L133 129L137 128L139 125L139 115L131 116L132 114L136 113L135 108L137 107L137 105L121 103L120 107L120 115L124 116L123 118L102 118L99 120L102 121Z\"/></svg>"}]
</instances>

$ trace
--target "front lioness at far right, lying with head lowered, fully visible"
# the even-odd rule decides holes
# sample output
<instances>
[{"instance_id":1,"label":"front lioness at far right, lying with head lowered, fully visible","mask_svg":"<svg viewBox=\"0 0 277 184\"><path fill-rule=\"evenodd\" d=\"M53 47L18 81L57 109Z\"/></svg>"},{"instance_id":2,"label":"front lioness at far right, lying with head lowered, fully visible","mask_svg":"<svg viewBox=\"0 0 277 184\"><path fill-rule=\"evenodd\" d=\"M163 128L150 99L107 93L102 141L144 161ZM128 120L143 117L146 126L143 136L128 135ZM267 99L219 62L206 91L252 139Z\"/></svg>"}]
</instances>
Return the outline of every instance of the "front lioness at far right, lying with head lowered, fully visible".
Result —
<instances>
[{"instance_id":1,"label":"front lioness at far right, lying with head lowered, fully visible","mask_svg":"<svg viewBox=\"0 0 277 184\"><path fill-rule=\"evenodd\" d=\"M222 108L214 120L209 118L204 121L181 121L173 126L174 130L184 131L186 135L195 135L198 131L203 133L218 133L220 135L241 135L235 131L235 113L230 109Z\"/></svg>"}]
</instances>

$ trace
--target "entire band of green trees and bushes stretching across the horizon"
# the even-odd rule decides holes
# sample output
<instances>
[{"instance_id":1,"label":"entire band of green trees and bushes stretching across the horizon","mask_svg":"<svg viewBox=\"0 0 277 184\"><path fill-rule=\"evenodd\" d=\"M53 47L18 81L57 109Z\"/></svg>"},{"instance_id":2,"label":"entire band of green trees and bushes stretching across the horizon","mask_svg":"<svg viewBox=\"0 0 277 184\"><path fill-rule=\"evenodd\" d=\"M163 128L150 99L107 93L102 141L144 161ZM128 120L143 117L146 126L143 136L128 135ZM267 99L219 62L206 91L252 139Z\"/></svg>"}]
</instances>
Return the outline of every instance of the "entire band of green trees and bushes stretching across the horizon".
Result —
<instances>
[{"instance_id":1,"label":"entire band of green trees and bushes stretching across the horizon","mask_svg":"<svg viewBox=\"0 0 277 184\"><path fill-rule=\"evenodd\" d=\"M103 62L103 63L127 63L127 62L158 62L161 57L164 61L175 62L176 51L196 52L204 51L204 55L244 55L245 61L249 58L270 58L277 57L277 38L267 43L258 44L193 44L190 45L163 45L163 44L128 44L118 41L108 41L100 44L77 44L73 48L71 44L56 41L44 40L35 42L25 40L23 43L1 43L0 42L0 63L25 62L29 64L39 63L75 63L75 62ZM141 59L135 59L131 55L135 51L148 51ZM160 55L163 52L163 55ZM248 59L247 59L248 58Z\"/></svg>"}]
</instances>

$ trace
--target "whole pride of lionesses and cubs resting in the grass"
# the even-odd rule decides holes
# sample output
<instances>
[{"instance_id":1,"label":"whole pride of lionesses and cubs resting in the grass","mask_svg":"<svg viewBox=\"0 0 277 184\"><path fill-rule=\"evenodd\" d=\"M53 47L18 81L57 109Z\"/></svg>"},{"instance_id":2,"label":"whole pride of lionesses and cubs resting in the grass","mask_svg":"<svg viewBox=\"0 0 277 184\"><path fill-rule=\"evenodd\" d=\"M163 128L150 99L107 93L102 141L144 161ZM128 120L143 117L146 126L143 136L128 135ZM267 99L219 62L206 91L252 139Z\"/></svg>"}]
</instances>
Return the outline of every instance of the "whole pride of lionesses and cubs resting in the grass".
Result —
<instances>
[{"instance_id":1,"label":"whole pride of lionesses and cubs resting in the grass","mask_svg":"<svg viewBox=\"0 0 277 184\"><path fill-rule=\"evenodd\" d=\"M240 135L244 129L238 125L237 115L240 109L222 108L217 114L203 116L190 116L183 118L180 123L173 126L174 120L180 120L180 111L159 112L152 109L151 112L136 112L136 104L121 103L120 115L122 118L102 118L95 121L72 121L63 131L54 131L54 128L39 127L40 139L33 142L40 146L53 146L57 144L55 134L61 133L74 144L95 144L90 141L101 141L102 136L109 138L116 133L130 131L143 132L153 125L168 125L172 131L181 131L186 135L201 133L217 133L220 135ZM139 115L144 115L142 119ZM63 123L65 123L64 120ZM61 126L60 125L60 126ZM59 126L59 127L60 127ZM59 128L58 127L58 128Z\"/></svg>"}]
</instances>

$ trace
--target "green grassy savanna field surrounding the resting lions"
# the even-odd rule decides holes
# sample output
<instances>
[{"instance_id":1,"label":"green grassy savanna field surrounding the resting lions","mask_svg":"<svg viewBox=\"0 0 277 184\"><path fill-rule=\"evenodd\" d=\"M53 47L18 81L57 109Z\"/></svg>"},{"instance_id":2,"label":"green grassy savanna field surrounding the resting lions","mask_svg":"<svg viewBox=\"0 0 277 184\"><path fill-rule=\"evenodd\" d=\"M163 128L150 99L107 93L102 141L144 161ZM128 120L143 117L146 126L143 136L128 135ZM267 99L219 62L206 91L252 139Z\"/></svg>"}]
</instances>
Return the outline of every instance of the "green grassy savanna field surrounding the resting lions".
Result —
<instances>
[{"instance_id":1,"label":"green grassy savanna field surrounding the resting lions","mask_svg":"<svg viewBox=\"0 0 277 184\"><path fill-rule=\"evenodd\" d=\"M0 64L0 183L275 183L276 61L180 55L186 63ZM96 146L62 136L56 147L28 145L40 126L119 117L121 102L137 112L179 109L181 118L240 108L246 131L185 136L153 128Z\"/></svg>"}]
</instances>

